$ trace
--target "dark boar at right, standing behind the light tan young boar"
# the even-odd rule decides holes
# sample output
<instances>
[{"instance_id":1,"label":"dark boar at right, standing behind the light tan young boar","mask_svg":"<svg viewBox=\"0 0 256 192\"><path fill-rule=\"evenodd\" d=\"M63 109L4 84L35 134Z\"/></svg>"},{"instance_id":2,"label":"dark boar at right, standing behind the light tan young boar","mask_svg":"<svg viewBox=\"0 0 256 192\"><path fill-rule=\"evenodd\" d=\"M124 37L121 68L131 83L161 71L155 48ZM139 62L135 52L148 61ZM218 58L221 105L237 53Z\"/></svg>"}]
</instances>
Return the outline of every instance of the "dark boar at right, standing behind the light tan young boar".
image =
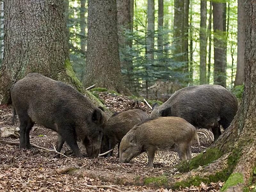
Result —
<instances>
[{"instance_id":1,"label":"dark boar at right, standing behind the light tan young boar","mask_svg":"<svg viewBox=\"0 0 256 192\"><path fill-rule=\"evenodd\" d=\"M227 129L238 108L236 97L220 85L185 87L172 94L161 106L153 105L151 117L177 116L195 127L212 128L217 140L220 125Z\"/></svg>"}]
</instances>

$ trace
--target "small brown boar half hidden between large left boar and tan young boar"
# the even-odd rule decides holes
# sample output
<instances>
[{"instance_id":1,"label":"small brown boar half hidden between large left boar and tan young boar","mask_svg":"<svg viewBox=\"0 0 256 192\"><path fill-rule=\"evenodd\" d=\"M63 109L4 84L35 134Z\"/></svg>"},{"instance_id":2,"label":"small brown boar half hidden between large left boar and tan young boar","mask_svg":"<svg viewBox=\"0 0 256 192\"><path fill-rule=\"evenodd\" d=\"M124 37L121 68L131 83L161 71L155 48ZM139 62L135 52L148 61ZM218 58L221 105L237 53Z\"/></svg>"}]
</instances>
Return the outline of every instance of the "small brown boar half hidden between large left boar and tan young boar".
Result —
<instances>
[{"instance_id":1,"label":"small brown boar half hidden between large left boar and tan young boar","mask_svg":"<svg viewBox=\"0 0 256 192\"><path fill-rule=\"evenodd\" d=\"M132 129L134 125L148 118L149 115L140 109L131 109L111 116L104 126L101 153L114 148L118 143L119 156L119 145L124 135ZM109 155L112 156L113 152L110 152Z\"/></svg>"}]
</instances>

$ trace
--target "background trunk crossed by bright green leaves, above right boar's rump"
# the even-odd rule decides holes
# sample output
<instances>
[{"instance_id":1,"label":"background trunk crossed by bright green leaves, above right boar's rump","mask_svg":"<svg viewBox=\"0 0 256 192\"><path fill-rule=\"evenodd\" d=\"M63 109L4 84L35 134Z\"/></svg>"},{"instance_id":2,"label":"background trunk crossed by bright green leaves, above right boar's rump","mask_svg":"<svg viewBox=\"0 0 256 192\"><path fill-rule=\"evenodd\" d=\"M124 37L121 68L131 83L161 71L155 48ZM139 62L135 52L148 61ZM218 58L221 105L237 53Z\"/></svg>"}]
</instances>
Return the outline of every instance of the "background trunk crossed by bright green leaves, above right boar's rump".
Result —
<instances>
[{"instance_id":1,"label":"background trunk crossed by bright green leaves, above right boar's rump","mask_svg":"<svg viewBox=\"0 0 256 192\"><path fill-rule=\"evenodd\" d=\"M222 40L225 36L223 31L223 4L213 2L212 6L214 31L214 84L226 87L225 42Z\"/></svg>"}]
</instances>

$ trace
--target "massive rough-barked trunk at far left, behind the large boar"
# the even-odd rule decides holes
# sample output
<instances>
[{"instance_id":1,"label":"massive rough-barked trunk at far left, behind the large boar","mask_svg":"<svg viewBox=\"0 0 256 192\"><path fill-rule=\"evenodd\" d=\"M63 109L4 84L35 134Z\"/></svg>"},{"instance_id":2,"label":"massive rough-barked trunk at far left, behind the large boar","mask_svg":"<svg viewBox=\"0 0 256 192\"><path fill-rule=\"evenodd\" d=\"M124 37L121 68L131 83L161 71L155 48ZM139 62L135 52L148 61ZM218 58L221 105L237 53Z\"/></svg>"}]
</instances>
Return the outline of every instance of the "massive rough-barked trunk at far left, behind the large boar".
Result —
<instances>
[{"instance_id":1,"label":"massive rough-barked trunk at far left, behind the large boar","mask_svg":"<svg viewBox=\"0 0 256 192\"><path fill-rule=\"evenodd\" d=\"M83 86L72 70L62 1L4 1L4 60L0 68L2 103L10 102L12 84L29 72ZM34 12L31 12L34 10Z\"/></svg>"}]
</instances>

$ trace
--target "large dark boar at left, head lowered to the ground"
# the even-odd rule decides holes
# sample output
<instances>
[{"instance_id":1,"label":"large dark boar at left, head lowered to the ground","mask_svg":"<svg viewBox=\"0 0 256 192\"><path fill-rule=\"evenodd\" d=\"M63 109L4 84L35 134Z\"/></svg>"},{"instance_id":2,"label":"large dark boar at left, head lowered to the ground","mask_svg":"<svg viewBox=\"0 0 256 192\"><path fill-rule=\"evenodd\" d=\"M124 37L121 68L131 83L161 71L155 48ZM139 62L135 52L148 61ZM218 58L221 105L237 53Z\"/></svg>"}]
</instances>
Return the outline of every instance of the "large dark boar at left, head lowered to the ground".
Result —
<instances>
[{"instance_id":1,"label":"large dark boar at left, head lowered to the ground","mask_svg":"<svg viewBox=\"0 0 256 192\"><path fill-rule=\"evenodd\" d=\"M83 157L76 142L80 140L89 156L98 156L105 117L71 86L30 73L12 86L11 97L20 119L20 148L31 148L29 132L37 123L58 132L58 152L67 142L77 157Z\"/></svg>"}]
</instances>

